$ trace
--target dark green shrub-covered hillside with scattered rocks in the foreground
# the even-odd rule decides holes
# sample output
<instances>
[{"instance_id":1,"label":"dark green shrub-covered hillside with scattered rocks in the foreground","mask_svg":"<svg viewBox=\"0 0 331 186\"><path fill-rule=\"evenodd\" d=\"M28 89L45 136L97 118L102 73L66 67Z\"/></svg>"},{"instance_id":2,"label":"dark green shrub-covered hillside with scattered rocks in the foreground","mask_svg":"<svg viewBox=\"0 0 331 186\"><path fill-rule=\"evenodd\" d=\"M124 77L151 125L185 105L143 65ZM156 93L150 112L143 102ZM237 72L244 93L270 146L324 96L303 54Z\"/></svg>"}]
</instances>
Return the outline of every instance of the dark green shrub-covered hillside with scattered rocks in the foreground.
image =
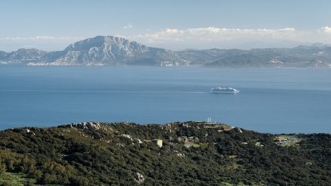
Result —
<instances>
[{"instance_id":1,"label":"dark green shrub-covered hillside with scattered rocks in the foreground","mask_svg":"<svg viewBox=\"0 0 331 186\"><path fill-rule=\"evenodd\" d=\"M291 136L297 142L280 145L203 122L14 128L0 132L0 174L40 185L330 184L331 135Z\"/></svg>"}]
</instances>

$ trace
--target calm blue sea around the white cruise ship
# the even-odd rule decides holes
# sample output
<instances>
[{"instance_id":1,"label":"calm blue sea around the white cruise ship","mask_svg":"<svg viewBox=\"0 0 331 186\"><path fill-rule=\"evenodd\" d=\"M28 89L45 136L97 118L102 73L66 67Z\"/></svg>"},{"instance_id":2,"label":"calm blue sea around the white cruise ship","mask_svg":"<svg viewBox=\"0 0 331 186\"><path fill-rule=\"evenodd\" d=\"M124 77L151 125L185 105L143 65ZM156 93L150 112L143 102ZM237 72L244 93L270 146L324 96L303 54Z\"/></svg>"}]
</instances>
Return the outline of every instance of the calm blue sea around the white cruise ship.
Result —
<instances>
[{"instance_id":1,"label":"calm blue sea around the white cruise ship","mask_svg":"<svg viewBox=\"0 0 331 186\"><path fill-rule=\"evenodd\" d=\"M210 94L210 87L239 94ZM212 121L331 133L331 70L0 66L0 129L81 121Z\"/></svg>"}]
</instances>

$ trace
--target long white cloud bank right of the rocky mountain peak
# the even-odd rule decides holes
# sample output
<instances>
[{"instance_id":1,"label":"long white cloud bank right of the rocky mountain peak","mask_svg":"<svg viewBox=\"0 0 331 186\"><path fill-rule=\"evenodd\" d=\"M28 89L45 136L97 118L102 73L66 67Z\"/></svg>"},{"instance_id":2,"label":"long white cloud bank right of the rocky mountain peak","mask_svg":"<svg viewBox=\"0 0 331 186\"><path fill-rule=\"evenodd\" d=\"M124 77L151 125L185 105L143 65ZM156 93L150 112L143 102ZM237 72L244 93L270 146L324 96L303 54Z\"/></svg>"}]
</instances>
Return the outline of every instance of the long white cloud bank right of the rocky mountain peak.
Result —
<instances>
[{"instance_id":1,"label":"long white cloud bank right of the rocky mountain peak","mask_svg":"<svg viewBox=\"0 0 331 186\"><path fill-rule=\"evenodd\" d=\"M331 28L324 32L295 28L239 29L239 28L167 28L158 32L138 34L129 39L154 47L180 50L183 48L268 48L293 47L299 44L329 43Z\"/></svg>"}]
</instances>

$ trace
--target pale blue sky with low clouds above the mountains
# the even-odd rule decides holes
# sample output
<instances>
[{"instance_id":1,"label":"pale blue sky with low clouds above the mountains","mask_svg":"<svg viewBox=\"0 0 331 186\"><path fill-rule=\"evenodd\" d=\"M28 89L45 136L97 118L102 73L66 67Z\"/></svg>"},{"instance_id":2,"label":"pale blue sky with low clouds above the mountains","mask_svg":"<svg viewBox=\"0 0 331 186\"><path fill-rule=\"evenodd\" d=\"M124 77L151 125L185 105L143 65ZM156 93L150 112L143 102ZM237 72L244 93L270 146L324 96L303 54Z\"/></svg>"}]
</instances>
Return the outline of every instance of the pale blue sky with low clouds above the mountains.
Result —
<instances>
[{"instance_id":1,"label":"pale blue sky with low clouds above the mountains","mask_svg":"<svg viewBox=\"0 0 331 186\"><path fill-rule=\"evenodd\" d=\"M3 0L0 50L113 35L170 50L331 44L329 0Z\"/></svg>"}]
</instances>

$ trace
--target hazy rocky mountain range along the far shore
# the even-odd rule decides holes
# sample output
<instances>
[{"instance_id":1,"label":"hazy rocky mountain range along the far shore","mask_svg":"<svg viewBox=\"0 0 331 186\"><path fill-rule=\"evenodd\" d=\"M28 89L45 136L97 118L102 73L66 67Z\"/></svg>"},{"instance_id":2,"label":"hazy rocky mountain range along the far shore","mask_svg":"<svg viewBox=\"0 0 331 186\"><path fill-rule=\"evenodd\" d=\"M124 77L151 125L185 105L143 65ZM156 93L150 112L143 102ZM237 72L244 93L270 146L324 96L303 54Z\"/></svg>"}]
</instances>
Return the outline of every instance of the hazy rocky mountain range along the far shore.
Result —
<instances>
[{"instance_id":1,"label":"hazy rocky mountain range along the far shore","mask_svg":"<svg viewBox=\"0 0 331 186\"><path fill-rule=\"evenodd\" d=\"M0 65L197 65L212 68L330 68L331 46L315 43L295 48L172 51L121 37L97 36L61 51L0 51Z\"/></svg>"}]
</instances>

